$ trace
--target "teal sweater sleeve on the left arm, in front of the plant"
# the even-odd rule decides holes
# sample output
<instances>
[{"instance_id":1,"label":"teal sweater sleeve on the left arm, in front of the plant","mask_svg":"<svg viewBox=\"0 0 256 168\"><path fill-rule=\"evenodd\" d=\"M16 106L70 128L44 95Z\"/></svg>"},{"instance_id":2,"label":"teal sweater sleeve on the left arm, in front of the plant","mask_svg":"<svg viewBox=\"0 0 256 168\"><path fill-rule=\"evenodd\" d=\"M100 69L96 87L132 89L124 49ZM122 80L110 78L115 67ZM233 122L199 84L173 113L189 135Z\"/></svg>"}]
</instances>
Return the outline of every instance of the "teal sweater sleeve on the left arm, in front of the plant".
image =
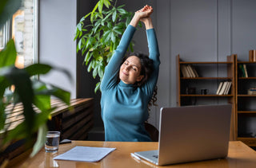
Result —
<instances>
[{"instance_id":1,"label":"teal sweater sleeve on the left arm, in front of the plant","mask_svg":"<svg viewBox=\"0 0 256 168\"><path fill-rule=\"evenodd\" d=\"M117 84L119 67L122 63L122 58L125 56L126 50L130 45L130 41L134 36L135 30L136 28L134 26L128 25L126 31L122 34L122 38L117 49L114 51L110 62L106 65L101 84L102 91L112 88L114 85Z\"/></svg>"}]
</instances>

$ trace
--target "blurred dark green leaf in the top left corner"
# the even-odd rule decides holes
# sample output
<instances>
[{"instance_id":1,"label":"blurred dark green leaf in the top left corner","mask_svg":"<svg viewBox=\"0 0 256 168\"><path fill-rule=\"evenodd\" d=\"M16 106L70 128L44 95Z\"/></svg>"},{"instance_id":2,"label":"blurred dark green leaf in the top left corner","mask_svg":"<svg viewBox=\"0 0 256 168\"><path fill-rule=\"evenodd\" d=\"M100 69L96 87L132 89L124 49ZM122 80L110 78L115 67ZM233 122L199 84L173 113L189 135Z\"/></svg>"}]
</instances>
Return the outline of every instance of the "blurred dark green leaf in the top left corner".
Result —
<instances>
[{"instance_id":1,"label":"blurred dark green leaf in the top left corner","mask_svg":"<svg viewBox=\"0 0 256 168\"><path fill-rule=\"evenodd\" d=\"M20 8L22 0L1 0L0 1L0 29L6 21Z\"/></svg>"}]
</instances>

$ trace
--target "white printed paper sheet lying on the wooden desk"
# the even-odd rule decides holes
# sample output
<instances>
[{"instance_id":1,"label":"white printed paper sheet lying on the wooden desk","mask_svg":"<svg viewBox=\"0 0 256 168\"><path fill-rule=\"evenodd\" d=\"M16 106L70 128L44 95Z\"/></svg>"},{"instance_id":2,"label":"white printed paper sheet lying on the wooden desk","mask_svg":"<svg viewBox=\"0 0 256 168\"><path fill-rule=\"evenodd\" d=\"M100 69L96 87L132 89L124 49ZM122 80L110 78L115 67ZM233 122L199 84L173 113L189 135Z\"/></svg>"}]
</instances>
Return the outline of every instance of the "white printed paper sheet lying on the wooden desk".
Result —
<instances>
[{"instance_id":1,"label":"white printed paper sheet lying on the wooden desk","mask_svg":"<svg viewBox=\"0 0 256 168\"><path fill-rule=\"evenodd\" d=\"M54 159L81 162L98 162L115 149L116 148L78 146L66 151L64 154L56 156Z\"/></svg>"}]
</instances>

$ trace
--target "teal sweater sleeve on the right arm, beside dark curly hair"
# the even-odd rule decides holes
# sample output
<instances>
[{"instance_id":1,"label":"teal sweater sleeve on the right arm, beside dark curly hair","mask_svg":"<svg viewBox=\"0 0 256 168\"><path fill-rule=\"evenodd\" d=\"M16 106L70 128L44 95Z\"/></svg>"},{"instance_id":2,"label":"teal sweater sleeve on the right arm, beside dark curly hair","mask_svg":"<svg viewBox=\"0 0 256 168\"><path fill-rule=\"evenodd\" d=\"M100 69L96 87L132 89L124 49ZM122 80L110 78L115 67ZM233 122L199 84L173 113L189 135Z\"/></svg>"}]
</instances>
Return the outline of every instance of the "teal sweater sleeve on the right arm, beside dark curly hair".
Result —
<instances>
[{"instance_id":1,"label":"teal sweater sleeve on the right arm, beside dark curly hair","mask_svg":"<svg viewBox=\"0 0 256 168\"><path fill-rule=\"evenodd\" d=\"M150 79L148 82L142 86L142 89L146 93L147 96L149 96L149 99L154 93L154 88L158 82L158 73L159 73L159 49L158 49L158 40L155 34L154 29L147 29L146 30L146 37L148 42L148 48L150 53L150 59L154 61L154 71L150 76Z\"/></svg>"}]
</instances>

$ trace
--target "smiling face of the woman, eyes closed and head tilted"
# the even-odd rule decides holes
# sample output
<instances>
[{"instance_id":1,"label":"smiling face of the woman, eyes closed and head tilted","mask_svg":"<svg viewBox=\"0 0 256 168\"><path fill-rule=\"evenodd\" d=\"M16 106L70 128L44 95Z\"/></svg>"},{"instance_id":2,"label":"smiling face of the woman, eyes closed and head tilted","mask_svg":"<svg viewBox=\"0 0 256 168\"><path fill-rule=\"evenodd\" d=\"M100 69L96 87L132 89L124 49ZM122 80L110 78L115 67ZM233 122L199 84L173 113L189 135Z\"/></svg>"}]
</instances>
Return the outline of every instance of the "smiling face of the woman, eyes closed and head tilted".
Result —
<instances>
[{"instance_id":1,"label":"smiling face of the woman, eyes closed and head tilted","mask_svg":"<svg viewBox=\"0 0 256 168\"><path fill-rule=\"evenodd\" d=\"M134 84L142 80L143 76L140 75L141 62L138 57L131 56L124 61L120 67L119 78L125 84Z\"/></svg>"}]
</instances>

